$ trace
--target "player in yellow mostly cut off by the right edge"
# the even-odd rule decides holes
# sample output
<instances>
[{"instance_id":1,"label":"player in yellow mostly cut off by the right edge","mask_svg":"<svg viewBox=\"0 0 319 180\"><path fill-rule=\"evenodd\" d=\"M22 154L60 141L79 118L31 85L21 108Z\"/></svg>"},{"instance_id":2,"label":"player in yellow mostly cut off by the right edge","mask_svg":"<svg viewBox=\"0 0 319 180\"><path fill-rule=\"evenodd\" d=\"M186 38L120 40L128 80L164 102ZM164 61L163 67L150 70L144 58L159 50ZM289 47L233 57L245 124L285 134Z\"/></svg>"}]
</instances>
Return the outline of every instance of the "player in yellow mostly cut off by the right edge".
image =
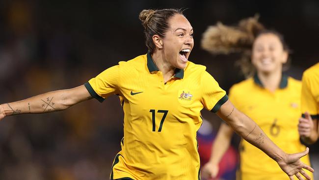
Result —
<instances>
[{"instance_id":1,"label":"player in yellow mostly cut off by the right edge","mask_svg":"<svg viewBox=\"0 0 319 180\"><path fill-rule=\"evenodd\" d=\"M301 111L299 134L305 143L313 144L319 135L319 63L308 68L302 75Z\"/></svg>"}]
</instances>

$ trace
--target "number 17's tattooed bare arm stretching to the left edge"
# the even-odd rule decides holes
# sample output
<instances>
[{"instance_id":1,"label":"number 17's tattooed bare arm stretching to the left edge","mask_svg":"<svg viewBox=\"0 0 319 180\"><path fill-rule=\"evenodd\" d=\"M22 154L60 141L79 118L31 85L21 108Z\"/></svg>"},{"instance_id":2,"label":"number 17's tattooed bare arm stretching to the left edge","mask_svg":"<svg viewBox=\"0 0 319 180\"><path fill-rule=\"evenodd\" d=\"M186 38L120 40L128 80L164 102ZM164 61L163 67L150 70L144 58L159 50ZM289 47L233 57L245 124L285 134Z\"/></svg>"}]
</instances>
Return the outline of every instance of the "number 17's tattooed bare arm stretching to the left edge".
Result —
<instances>
[{"instance_id":1,"label":"number 17's tattooed bare arm stretching to the left edge","mask_svg":"<svg viewBox=\"0 0 319 180\"><path fill-rule=\"evenodd\" d=\"M25 100L1 104L0 120L11 115L62 111L91 98L84 85L68 90L51 91Z\"/></svg>"}]
</instances>

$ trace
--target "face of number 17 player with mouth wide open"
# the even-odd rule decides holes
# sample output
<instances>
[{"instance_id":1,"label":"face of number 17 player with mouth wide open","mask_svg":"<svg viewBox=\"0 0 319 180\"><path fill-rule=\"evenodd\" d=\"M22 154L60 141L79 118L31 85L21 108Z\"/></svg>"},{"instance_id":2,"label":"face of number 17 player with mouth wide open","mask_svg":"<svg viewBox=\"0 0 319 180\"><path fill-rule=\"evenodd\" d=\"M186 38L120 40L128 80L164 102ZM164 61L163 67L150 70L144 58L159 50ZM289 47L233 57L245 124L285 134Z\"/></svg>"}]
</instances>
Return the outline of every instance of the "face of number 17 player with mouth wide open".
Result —
<instances>
[{"instance_id":1,"label":"face of number 17 player with mouth wide open","mask_svg":"<svg viewBox=\"0 0 319 180\"><path fill-rule=\"evenodd\" d=\"M185 16L176 14L169 20L169 29L162 39L164 59L174 68L184 69L194 46L193 28Z\"/></svg>"}]
</instances>

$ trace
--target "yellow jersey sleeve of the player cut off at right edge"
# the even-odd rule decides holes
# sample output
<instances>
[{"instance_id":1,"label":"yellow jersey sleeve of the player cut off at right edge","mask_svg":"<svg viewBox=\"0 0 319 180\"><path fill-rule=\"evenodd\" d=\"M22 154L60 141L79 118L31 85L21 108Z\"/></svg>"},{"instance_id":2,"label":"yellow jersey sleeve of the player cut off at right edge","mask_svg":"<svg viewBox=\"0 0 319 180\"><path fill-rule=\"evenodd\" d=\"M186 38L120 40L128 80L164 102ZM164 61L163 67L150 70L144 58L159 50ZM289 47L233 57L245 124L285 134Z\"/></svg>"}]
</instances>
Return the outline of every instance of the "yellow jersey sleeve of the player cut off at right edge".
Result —
<instances>
[{"instance_id":1,"label":"yellow jersey sleeve of the player cut off at right edge","mask_svg":"<svg viewBox=\"0 0 319 180\"><path fill-rule=\"evenodd\" d=\"M304 113L307 111L313 119L319 118L318 103L313 95L311 85L311 77L304 73L302 76L302 89L301 89L301 112L304 117Z\"/></svg>"}]
</instances>

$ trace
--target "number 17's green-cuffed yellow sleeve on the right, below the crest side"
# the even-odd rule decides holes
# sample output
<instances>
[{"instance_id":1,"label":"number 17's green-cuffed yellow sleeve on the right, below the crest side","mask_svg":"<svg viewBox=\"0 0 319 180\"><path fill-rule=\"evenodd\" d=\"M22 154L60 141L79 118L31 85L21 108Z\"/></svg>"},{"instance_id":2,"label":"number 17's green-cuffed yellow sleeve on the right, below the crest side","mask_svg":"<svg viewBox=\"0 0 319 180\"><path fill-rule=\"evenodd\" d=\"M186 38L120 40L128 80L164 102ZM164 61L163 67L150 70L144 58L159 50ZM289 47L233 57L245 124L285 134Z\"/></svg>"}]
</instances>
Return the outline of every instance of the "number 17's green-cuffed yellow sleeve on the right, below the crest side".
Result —
<instances>
[{"instance_id":1,"label":"number 17's green-cuffed yellow sleeve on the right, below the crest side","mask_svg":"<svg viewBox=\"0 0 319 180\"><path fill-rule=\"evenodd\" d=\"M216 80L207 71L204 71L201 76L201 86L203 87L201 101L205 109L216 113L220 106L228 100L226 91L219 87Z\"/></svg>"}]
</instances>

